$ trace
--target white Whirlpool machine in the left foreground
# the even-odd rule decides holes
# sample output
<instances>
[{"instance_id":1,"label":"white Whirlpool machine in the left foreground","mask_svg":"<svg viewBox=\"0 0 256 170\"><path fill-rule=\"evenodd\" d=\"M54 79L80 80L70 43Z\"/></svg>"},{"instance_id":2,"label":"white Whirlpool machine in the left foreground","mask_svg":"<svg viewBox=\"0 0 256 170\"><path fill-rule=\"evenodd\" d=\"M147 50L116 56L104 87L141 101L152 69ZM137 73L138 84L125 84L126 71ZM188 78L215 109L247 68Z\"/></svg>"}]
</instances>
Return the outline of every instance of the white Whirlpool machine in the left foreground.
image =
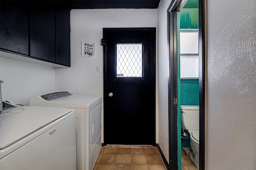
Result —
<instances>
[{"instance_id":1,"label":"white Whirlpool machine in the left foreground","mask_svg":"<svg viewBox=\"0 0 256 170\"><path fill-rule=\"evenodd\" d=\"M0 114L0 169L76 170L74 110L23 109Z\"/></svg>"}]
</instances>

